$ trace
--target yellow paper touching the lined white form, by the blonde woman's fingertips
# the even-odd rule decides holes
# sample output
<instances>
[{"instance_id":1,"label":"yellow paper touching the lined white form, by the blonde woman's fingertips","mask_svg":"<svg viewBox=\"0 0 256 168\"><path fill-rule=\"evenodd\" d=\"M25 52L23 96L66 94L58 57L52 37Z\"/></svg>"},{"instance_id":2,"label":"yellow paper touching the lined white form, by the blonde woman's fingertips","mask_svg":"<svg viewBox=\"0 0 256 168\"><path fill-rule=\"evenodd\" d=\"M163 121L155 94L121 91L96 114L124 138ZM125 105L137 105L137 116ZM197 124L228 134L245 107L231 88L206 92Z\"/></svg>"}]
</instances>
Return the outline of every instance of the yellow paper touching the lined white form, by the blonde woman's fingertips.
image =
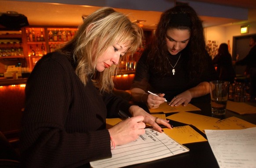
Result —
<instances>
[{"instance_id":1,"label":"yellow paper touching the lined white form, by the blonde woman's fingertips","mask_svg":"<svg viewBox=\"0 0 256 168\"><path fill-rule=\"evenodd\" d=\"M207 141L189 125L174 127L173 129L163 128L163 130L165 134L181 144Z\"/></svg>"}]
</instances>

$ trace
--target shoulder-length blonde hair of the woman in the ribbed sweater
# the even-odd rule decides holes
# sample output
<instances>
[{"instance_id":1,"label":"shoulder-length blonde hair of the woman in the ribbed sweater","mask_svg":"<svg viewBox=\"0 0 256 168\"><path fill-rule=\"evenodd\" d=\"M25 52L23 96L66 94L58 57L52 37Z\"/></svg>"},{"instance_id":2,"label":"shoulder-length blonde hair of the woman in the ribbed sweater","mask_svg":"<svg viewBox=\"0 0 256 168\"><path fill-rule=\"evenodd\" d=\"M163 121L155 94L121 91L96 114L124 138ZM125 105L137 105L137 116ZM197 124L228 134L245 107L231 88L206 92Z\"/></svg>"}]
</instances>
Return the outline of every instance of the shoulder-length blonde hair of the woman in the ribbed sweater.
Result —
<instances>
[{"instance_id":1,"label":"shoulder-length blonde hair of the woman in the ribbed sweater","mask_svg":"<svg viewBox=\"0 0 256 168\"><path fill-rule=\"evenodd\" d=\"M103 7L84 19L73 40L62 47L61 51L73 55L77 65L76 74L84 85L88 77L91 77L100 92L110 92L117 66L98 72L95 69L96 60L114 43L124 43L128 47L127 54L133 54L141 45L142 38L142 29L127 16L111 7Z\"/></svg>"}]
</instances>

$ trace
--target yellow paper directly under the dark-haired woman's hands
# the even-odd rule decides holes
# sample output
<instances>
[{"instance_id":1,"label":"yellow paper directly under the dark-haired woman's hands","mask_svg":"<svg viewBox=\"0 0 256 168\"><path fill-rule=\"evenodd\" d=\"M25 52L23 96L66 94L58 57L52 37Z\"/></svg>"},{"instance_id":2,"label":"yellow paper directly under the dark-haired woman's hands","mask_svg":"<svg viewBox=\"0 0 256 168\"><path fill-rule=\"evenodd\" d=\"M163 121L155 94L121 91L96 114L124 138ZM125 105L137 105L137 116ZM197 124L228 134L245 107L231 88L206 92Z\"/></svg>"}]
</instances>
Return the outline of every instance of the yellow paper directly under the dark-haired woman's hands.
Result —
<instances>
[{"instance_id":1,"label":"yellow paper directly under the dark-haired woman's hands","mask_svg":"<svg viewBox=\"0 0 256 168\"><path fill-rule=\"evenodd\" d=\"M157 109L149 109L150 113L164 112L164 113L172 113L172 112L181 112L181 111L198 111L200 110L196 106L192 104L188 104L187 106L169 106L167 103L162 103Z\"/></svg>"}]
</instances>

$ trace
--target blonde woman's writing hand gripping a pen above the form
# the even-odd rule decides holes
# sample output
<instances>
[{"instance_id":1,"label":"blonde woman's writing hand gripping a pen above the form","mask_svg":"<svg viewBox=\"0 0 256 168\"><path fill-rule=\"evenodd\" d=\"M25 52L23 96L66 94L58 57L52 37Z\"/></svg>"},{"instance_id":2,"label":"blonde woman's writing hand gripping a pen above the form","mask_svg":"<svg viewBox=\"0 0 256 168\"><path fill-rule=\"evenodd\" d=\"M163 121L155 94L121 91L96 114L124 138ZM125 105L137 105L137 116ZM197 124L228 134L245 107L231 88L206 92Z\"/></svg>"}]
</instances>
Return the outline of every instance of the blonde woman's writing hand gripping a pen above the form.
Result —
<instances>
[{"instance_id":1,"label":"blonde woman's writing hand gripping a pen above the form","mask_svg":"<svg viewBox=\"0 0 256 168\"><path fill-rule=\"evenodd\" d=\"M145 134L146 124L143 120L143 116L131 117L110 128L109 133L115 145L124 145L138 139L139 135Z\"/></svg>"}]
</instances>

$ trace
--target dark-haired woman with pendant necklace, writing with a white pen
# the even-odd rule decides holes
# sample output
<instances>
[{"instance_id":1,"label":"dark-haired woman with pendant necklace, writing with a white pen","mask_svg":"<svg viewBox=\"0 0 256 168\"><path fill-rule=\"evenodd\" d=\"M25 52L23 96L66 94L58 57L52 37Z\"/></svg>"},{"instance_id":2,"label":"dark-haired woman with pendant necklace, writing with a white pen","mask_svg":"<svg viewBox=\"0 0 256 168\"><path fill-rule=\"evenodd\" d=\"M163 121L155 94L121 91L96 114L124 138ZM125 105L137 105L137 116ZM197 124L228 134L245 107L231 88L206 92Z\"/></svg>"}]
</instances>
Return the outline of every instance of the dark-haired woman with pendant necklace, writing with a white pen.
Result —
<instances>
[{"instance_id":1,"label":"dark-haired woman with pendant necklace, writing with a white pen","mask_svg":"<svg viewBox=\"0 0 256 168\"><path fill-rule=\"evenodd\" d=\"M170 106L210 102L208 82L216 79L202 22L192 7L181 5L161 15L152 43L137 64L131 94L153 109L165 99Z\"/></svg>"}]
</instances>

